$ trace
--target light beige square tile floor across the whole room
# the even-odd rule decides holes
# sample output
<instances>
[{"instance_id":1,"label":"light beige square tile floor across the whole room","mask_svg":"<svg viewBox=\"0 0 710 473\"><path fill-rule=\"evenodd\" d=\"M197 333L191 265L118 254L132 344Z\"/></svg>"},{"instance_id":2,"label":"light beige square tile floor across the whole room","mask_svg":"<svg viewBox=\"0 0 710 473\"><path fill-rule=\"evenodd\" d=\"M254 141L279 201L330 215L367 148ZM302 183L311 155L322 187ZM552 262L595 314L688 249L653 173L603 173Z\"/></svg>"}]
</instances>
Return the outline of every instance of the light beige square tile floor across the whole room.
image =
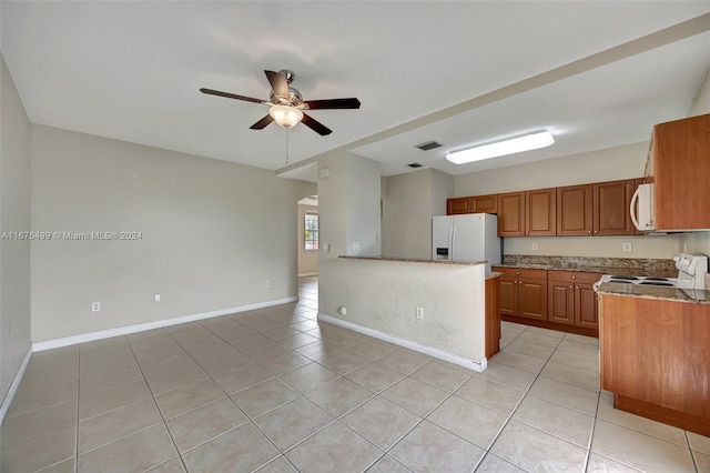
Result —
<instances>
[{"instance_id":1,"label":"light beige square tile floor across the whole room","mask_svg":"<svg viewBox=\"0 0 710 473\"><path fill-rule=\"evenodd\" d=\"M598 341L503 324L484 373L300 302L32 356L3 472L709 472L710 439L616 411Z\"/></svg>"}]
</instances>

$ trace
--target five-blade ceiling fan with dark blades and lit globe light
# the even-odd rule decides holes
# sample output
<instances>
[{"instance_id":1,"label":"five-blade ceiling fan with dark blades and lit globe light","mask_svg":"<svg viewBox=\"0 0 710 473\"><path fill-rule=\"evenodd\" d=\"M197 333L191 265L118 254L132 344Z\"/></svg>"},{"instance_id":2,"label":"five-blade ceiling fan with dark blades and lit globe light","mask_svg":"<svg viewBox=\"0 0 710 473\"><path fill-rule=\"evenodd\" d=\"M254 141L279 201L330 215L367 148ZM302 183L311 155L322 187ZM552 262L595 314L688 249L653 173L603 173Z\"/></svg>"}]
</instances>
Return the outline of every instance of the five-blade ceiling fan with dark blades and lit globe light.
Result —
<instances>
[{"instance_id":1,"label":"five-blade ceiling fan with dark blades and lit globe light","mask_svg":"<svg viewBox=\"0 0 710 473\"><path fill-rule=\"evenodd\" d=\"M326 135L331 134L333 130L304 113L304 110L359 109L359 100L355 98L303 100L301 92L291 87L295 76L290 70L284 69L278 72L264 71L264 73L272 87L268 100L260 100L252 97L237 95L236 93L221 92L219 90L205 88L200 89L200 92L268 105L268 114L251 125L250 129L252 130L263 130L273 121L285 129L293 128L298 124L298 122L303 122L303 124L316 133Z\"/></svg>"}]
</instances>

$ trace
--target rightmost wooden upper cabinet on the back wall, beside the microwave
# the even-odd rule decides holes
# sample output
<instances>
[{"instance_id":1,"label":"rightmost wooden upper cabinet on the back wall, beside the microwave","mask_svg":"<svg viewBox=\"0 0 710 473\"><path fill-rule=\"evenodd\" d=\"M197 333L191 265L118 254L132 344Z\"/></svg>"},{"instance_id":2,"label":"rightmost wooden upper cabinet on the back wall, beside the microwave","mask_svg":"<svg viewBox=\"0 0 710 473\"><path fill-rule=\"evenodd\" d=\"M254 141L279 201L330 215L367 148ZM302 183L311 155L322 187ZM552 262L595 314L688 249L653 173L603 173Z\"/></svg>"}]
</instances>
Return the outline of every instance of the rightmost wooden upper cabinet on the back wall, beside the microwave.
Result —
<instances>
[{"instance_id":1,"label":"rightmost wooden upper cabinet on the back wall, beside the microwave","mask_svg":"<svg viewBox=\"0 0 710 473\"><path fill-rule=\"evenodd\" d=\"M594 235L636 234L636 228L629 212L635 190L636 181L633 179L592 184Z\"/></svg>"}]
</instances>

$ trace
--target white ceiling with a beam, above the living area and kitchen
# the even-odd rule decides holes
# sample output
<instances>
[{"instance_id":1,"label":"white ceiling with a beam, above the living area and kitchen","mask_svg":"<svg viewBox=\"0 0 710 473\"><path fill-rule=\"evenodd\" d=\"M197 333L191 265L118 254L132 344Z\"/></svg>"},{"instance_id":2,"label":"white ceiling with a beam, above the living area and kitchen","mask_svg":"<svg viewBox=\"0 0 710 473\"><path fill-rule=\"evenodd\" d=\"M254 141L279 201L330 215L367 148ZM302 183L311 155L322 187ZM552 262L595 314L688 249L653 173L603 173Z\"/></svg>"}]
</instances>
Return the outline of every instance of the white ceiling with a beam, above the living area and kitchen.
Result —
<instances>
[{"instance_id":1,"label":"white ceiling with a beam, above the living area and kitchen","mask_svg":"<svg viewBox=\"0 0 710 473\"><path fill-rule=\"evenodd\" d=\"M687 115L710 66L710 1L2 1L2 54L33 123L313 179L346 149L384 175L449 174L645 141ZM706 17L692 20L706 14ZM668 31L661 31L672 27ZM660 32L659 32L660 31ZM649 36L648 38L645 38ZM248 127L263 70L291 69L334 132ZM545 150L456 167L446 151L547 128ZM419 151L436 140L443 148ZM295 163L295 164L294 164Z\"/></svg>"}]
</instances>

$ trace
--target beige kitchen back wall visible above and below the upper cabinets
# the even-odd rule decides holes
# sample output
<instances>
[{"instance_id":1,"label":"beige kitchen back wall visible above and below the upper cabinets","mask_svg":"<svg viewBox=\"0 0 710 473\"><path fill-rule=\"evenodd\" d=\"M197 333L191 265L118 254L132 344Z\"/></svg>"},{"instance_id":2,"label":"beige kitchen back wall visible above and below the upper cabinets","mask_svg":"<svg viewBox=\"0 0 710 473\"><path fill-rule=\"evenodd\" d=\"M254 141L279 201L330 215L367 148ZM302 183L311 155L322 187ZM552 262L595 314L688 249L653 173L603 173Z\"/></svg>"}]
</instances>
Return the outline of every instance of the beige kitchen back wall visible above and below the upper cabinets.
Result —
<instances>
[{"instance_id":1,"label":"beige kitchen back wall visible above and below the upper cabinets","mask_svg":"<svg viewBox=\"0 0 710 473\"><path fill-rule=\"evenodd\" d=\"M455 177L454 191L456 197L464 197L640 178L643 175L647 155L648 143L636 143L475 172ZM537 250L532 250L534 242L538 244ZM623 242L631 242L631 252L622 251ZM504 240L505 254L668 259L678 254L678 235Z\"/></svg>"}]
</instances>

